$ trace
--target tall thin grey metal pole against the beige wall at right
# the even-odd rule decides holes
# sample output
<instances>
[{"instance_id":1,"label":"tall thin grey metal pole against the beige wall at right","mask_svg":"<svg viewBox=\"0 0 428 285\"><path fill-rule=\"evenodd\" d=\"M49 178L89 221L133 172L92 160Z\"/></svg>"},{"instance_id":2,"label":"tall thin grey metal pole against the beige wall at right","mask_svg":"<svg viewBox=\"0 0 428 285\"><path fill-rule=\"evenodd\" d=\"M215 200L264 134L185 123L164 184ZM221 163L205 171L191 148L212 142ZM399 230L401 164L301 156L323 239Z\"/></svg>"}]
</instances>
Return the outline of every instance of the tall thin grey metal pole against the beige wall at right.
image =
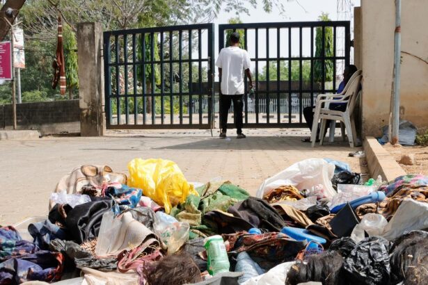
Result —
<instances>
[{"instance_id":1,"label":"tall thin grey metal pole against the beige wall at right","mask_svg":"<svg viewBox=\"0 0 428 285\"><path fill-rule=\"evenodd\" d=\"M394 83L392 92L392 124L390 142L395 145L399 141L399 81L401 65L401 15L402 1L395 0L395 55L394 55Z\"/></svg>"}]
</instances>

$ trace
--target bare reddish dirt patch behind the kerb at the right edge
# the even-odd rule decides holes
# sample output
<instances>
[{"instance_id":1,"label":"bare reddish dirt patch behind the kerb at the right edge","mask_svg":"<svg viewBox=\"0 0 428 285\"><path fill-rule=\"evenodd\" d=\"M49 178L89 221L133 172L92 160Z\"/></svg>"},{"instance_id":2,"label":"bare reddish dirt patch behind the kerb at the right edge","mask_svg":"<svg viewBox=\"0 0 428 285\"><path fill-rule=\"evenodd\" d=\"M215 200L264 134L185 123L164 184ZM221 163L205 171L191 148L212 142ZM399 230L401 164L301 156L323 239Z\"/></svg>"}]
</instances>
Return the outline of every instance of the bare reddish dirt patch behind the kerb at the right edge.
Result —
<instances>
[{"instance_id":1,"label":"bare reddish dirt patch behind the kerb at the right edge","mask_svg":"<svg viewBox=\"0 0 428 285\"><path fill-rule=\"evenodd\" d=\"M428 176L428 147L393 147L390 144L386 144L383 147L395 158L395 161L399 163L402 155L413 154L415 156L415 165L399 165L404 169L407 174L424 174Z\"/></svg>"}]
</instances>

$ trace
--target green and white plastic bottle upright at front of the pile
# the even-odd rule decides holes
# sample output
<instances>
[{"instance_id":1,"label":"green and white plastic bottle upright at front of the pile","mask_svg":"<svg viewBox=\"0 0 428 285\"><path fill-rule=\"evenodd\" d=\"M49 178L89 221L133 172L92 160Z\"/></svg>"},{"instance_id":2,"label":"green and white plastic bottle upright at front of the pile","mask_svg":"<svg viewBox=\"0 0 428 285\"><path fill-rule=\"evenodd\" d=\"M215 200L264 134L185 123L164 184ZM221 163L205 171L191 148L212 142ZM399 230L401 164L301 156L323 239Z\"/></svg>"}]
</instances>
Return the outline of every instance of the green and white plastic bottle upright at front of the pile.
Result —
<instances>
[{"instance_id":1,"label":"green and white plastic bottle upright at front of the pile","mask_svg":"<svg viewBox=\"0 0 428 285\"><path fill-rule=\"evenodd\" d=\"M207 269L210 275L228 272L230 268L228 252L221 236L209 236L205 238L205 250L207 250Z\"/></svg>"}]
</instances>

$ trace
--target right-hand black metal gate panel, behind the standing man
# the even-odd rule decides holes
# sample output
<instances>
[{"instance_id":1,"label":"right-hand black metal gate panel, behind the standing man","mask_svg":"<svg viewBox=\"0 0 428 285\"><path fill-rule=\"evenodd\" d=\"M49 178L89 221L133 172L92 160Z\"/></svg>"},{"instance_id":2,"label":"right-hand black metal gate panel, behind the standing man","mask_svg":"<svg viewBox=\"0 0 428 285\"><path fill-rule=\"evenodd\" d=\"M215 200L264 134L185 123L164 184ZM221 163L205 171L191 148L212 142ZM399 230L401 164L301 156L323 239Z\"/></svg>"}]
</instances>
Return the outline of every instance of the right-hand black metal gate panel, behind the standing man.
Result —
<instances>
[{"instance_id":1,"label":"right-hand black metal gate panel, behind the standing man","mask_svg":"<svg viewBox=\"0 0 428 285\"><path fill-rule=\"evenodd\" d=\"M244 127L305 127L303 108L318 94L335 92L338 72L349 65L349 22L222 24L219 50L232 31L241 34L254 67L254 97L245 84ZM215 90L218 111L219 86Z\"/></svg>"}]
</instances>

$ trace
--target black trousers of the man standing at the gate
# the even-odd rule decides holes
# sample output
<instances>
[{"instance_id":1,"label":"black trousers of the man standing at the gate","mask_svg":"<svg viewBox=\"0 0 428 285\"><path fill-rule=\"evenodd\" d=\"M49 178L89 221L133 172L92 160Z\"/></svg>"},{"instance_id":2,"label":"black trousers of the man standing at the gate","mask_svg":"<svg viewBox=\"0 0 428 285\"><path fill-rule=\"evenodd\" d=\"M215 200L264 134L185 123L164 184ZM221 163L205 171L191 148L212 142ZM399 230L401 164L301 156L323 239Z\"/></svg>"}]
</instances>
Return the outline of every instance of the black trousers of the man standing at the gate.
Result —
<instances>
[{"instance_id":1,"label":"black trousers of the man standing at the gate","mask_svg":"<svg viewBox=\"0 0 428 285\"><path fill-rule=\"evenodd\" d=\"M228 129L228 113L230 104L233 101L233 111L235 116L235 127L237 133L242 133L242 111L244 109L243 95L220 95L220 128L222 132Z\"/></svg>"}]
</instances>

